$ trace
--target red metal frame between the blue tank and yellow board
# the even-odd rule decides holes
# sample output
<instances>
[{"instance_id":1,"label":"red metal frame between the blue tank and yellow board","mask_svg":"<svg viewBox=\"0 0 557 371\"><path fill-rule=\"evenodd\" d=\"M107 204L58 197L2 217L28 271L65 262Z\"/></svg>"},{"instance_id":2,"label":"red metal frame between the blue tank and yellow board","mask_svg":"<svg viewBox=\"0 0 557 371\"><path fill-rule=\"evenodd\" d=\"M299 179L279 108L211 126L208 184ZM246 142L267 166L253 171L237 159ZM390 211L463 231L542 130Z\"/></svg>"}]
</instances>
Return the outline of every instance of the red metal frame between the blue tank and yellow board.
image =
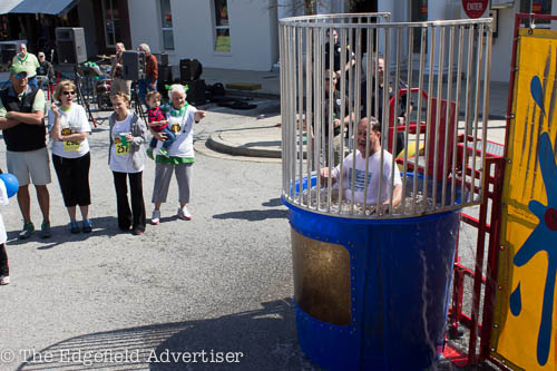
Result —
<instances>
[{"instance_id":1,"label":"red metal frame between the blue tank and yellow board","mask_svg":"<svg viewBox=\"0 0 557 371\"><path fill-rule=\"evenodd\" d=\"M453 281L453 293L452 293L452 307L450 310L451 328L457 330L459 323L468 326L470 329L470 339L468 343L468 355L465 358L461 354L453 355L451 353L451 359L460 362L461 365L470 365L475 363L489 360L497 367L501 369L507 369L499 360L491 357L491 329L494 323L494 305L497 292L497 267L498 267L498 252L499 252L499 237L500 237L500 225L501 225L501 196L502 196L502 184L505 165L508 158L508 143L509 143L509 126L510 120L514 118L512 115L512 98L515 92L515 80L516 80L516 66L517 66L517 41L519 36L520 25L524 20L557 20L557 16L549 14L534 14L534 13L517 13L515 17L515 31L514 31L514 42L512 42L512 55L510 62L510 78L509 78L509 94L507 104L507 127L505 133L505 145L504 145L504 156L491 156L486 154L486 170L487 174L492 174L487 176L483 182L483 189L486 191L486 197L483 203L480 205L479 219L461 213L462 222L478 228L478 240L477 240L477 251L476 251L476 265L475 270L470 270L460 263L460 257L458 256L458 245L457 255L455 262L455 281ZM463 150L460 146L459 150ZM468 148L467 153L473 150ZM494 167L495 166L495 167ZM471 175L470 169L466 169L468 175ZM476 172L476 177L479 173ZM489 191L489 185L492 185L492 191ZM476 189L475 189L476 192ZM487 222L487 209L488 201L491 199L491 217L490 223ZM488 251L487 251L487 271L486 276L482 274L477 274L476 272L481 272L485 260L485 241L486 233L489 233ZM462 312L463 303L463 280L465 276L469 276L473 280L472 290L472 309L471 315L468 316ZM481 323L479 320L479 309L480 309L480 294L481 286L485 285L485 299L483 299L483 314ZM479 353L477 353L477 342L478 342L478 330L480 346ZM450 344L449 344L450 345ZM450 352L449 352L450 353ZM460 357L459 357L460 355Z\"/></svg>"}]
</instances>

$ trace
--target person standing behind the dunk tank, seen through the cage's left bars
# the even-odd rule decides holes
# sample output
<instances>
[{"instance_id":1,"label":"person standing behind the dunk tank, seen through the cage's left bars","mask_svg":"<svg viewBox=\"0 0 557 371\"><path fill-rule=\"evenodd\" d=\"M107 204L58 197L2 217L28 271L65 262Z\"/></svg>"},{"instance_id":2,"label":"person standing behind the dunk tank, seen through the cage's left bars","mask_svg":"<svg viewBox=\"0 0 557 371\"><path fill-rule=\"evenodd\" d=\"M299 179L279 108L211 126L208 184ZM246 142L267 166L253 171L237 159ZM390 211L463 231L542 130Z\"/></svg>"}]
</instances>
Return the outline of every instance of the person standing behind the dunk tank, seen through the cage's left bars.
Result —
<instances>
[{"instance_id":1,"label":"person standing behind the dunk tank, seen through the cage's left bars","mask_svg":"<svg viewBox=\"0 0 557 371\"><path fill-rule=\"evenodd\" d=\"M332 81L332 88L333 92L331 94L330 91L330 86ZM324 163L326 164L329 162L329 153L330 150L333 152L333 164L336 166L341 159L342 159L342 129L346 130L348 125L350 124L350 114L349 114L349 99L348 97L344 97L344 104L342 102L342 96L339 89L336 89L336 81L338 81L338 76L334 71L331 71L329 69L325 70L325 76L323 80L324 85L324 90L325 90L325 97L322 102L322 117L324 123L319 131L319 138L316 137L316 128L315 125L312 125L312 136L314 140L320 140L324 139L324 144L322 148L324 149L323 156L324 156ZM332 117L330 117L330 104L332 101L333 105L333 110L332 110ZM341 118L341 113L342 113L342 107L344 106L344 118ZM352 114L352 118L354 115ZM330 140L330 124L333 125L333 136L332 139ZM315 148L315 145L314 145Z\"/></svg>"}]
</instances>

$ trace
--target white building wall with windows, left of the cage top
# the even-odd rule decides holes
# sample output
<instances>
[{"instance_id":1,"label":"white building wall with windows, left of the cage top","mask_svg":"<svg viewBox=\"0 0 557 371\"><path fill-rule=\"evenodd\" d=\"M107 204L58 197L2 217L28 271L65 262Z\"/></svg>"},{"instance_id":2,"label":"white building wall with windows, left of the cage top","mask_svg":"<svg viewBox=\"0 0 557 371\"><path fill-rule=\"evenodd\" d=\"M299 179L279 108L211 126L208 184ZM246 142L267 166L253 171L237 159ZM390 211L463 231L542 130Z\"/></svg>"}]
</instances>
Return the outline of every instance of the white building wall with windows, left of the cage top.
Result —
<instances>
[{"instance_id":1,"label":"white building wall with windows, left of the cage top","mask_svg":"<svg viewBox=\"0 0 557 371\"><path fill-rule=\"evenodd\" d=\"M278 59L277 7L263 0L128 0L131 45L147 42L172 65L271 70Z\"/></svg>"}]
</instances>

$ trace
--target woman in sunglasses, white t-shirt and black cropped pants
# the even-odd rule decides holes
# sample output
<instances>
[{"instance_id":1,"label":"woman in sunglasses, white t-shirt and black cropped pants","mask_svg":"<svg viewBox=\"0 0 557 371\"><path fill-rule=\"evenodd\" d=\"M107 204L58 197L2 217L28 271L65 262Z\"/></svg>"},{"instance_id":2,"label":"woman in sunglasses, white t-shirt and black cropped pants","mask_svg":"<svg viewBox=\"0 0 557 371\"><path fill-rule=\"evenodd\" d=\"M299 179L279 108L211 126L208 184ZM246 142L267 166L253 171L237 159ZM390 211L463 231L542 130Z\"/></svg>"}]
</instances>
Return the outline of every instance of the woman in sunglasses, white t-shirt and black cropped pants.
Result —
<instances>
[{"instance_id":1,"label":"woman in sunglasses, white t-shirt and black cropped pants","mask_svg":"<svg viewBox=\"0 0 557 371\"><path fill-rule=\"evenodd\" d=\"M87 135L91 131L84 107L76 104L76 86L70 80L58 84L55 91L56 104L48 113L48 129L52 139L52 164L62 191L63 204L70 217L70 232L89 233L91 204L89 167L91 163ZM81 228L76 221L79 205Z\"/></svg>"}]
</instances>

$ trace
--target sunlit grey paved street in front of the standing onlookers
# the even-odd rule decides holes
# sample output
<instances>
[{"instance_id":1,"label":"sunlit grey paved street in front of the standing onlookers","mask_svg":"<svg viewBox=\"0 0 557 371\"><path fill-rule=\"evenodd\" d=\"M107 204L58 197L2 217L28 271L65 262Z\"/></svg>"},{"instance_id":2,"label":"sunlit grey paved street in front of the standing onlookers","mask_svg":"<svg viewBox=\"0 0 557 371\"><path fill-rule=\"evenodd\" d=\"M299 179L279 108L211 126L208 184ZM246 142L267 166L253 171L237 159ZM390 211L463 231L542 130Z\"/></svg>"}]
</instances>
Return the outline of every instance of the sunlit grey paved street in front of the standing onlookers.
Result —
<instances>
[{"instance_id":1,"label":"sunlit grey paved street in front of the standing onlookers","mask_svg":"<svg viewBox=\"0 0 557 371\"><path fill-rule=\"evenodd\" d=\"M196 147L215 130L277 123L280 116L263 118L277 107L267 101L244 113L209 105L195 128ZM69 233L53 169L51 238L17 240L16 198L0 211L11 276L0 287L0 369L311 369L295 339L281 164L198 152L193 221L176 218L173 180L160 225L133 236L117 226L107 121L94 128L90 146L91 234ZM4 168L3 140L0 148ZM154 167L148 160L144 170L148 218ZM31 199L40 226L35 192Z\"/></svg>"}]
</instances>

